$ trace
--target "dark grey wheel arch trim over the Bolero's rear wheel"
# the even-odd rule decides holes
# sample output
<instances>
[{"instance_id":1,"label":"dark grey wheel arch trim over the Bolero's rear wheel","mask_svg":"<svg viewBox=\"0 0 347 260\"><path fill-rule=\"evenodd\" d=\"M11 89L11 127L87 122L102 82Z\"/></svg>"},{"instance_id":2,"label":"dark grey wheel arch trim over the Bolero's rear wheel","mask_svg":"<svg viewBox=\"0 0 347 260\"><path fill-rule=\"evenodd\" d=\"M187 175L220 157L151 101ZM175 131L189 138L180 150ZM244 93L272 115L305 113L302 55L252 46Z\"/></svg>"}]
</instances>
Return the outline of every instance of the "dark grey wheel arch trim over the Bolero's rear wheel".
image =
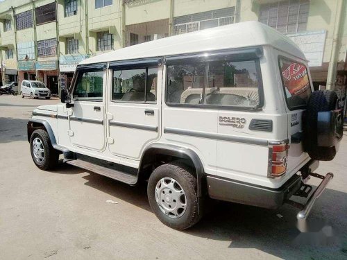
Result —
<instances>
[{"instance_id":1,"label":"dark grey wheel arch trim over the Bolero's rear wheel","mask_svg":"<svg viewBox=\"0 0 347 260\"><path fill-rule=\"evenodd\" d=\"M203 164L198 155L189 148L183 148L180 146L174 146L171 144L151 144L146 147L144 153L142 153L142 158L139 163L139 177L143 174L144 168L153 165L155 163L155 157L157 155L164 155L167 157L174 157L178 159L187 159L192 162L194 170L196 173L198 196L203 197L207 193L205 186L205 171Z\"/></svg>"}]
</instances>

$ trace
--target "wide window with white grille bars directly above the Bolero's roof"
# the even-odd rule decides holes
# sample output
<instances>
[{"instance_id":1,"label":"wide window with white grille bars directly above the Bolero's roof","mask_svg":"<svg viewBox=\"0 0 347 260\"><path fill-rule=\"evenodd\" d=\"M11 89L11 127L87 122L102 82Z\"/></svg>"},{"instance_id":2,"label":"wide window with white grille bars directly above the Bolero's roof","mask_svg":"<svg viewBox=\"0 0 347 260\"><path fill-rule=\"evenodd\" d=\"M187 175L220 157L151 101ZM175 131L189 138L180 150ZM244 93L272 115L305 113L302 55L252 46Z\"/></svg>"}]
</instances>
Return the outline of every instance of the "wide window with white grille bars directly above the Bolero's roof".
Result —
<instances>
[{"instance_id":1,"label":"wide window with white grille bars directly above the Bolero's roof","mask_svg":"<svg viewBox=\"0 0 347 260\"><path fill-rule=\"evenodd\" d=\"M174 18L174 34L189 33L207 28L233 24L235 7L198 12L192 15L183 15Z\"/></svg>"}]
</instances>

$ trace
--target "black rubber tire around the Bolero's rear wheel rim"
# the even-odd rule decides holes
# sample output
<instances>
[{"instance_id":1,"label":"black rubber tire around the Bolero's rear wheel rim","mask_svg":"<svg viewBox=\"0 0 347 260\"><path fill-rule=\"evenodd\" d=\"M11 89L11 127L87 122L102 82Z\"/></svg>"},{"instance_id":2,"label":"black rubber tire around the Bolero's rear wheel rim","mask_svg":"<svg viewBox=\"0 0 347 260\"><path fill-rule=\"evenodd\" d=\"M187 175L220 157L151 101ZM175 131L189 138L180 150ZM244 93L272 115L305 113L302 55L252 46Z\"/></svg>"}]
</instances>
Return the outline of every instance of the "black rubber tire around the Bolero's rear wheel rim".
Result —
<instances>
[{"instance_id":1,"label":"black rubber tire around the Bolero's rear wheel rim","mask_svg":"<svg viewBox=\"0 0 347 260\"><path fill-rule=\"evenodd\" d=\"M187 205L183 215L179 218L170 218L169 215L164 214L155 200L155 187L164 177L176 180L185 193ZM198 205L196 184L196 177L194 177L192 169L185 166L185 164L181 164L180 162L171 162L156 168L149 177L149 184L147 187L149 204L151 205L155 216L157 216L165 225L178 230L187 229L196 224L201 218L202 210L202 206ZM200 209L198 209L199 206Z\"/></svg>"}]
</instances>

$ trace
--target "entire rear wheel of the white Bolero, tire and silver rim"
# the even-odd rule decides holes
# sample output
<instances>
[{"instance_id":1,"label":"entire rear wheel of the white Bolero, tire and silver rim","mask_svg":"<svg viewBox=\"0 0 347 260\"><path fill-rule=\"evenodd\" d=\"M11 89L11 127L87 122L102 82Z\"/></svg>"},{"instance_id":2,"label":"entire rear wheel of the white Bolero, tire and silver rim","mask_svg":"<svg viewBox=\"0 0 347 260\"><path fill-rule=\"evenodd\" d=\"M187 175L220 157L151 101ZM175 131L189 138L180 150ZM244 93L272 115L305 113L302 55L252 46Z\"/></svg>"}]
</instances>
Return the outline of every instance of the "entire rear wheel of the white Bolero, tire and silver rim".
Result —
<instances>
[{"instance_id":1,"label":"entire rear wheel of the white Bolero, tire and silver rim","mask_svg":"<svg viewBox=\"0 0 347 260\"><path fill-rule=\"evenodd\" d=\"M196 177L185 164L163 164L156 168L147 187L149 204L165 225L182 230L200 219Z\"/></svg>"}]
</instances>

